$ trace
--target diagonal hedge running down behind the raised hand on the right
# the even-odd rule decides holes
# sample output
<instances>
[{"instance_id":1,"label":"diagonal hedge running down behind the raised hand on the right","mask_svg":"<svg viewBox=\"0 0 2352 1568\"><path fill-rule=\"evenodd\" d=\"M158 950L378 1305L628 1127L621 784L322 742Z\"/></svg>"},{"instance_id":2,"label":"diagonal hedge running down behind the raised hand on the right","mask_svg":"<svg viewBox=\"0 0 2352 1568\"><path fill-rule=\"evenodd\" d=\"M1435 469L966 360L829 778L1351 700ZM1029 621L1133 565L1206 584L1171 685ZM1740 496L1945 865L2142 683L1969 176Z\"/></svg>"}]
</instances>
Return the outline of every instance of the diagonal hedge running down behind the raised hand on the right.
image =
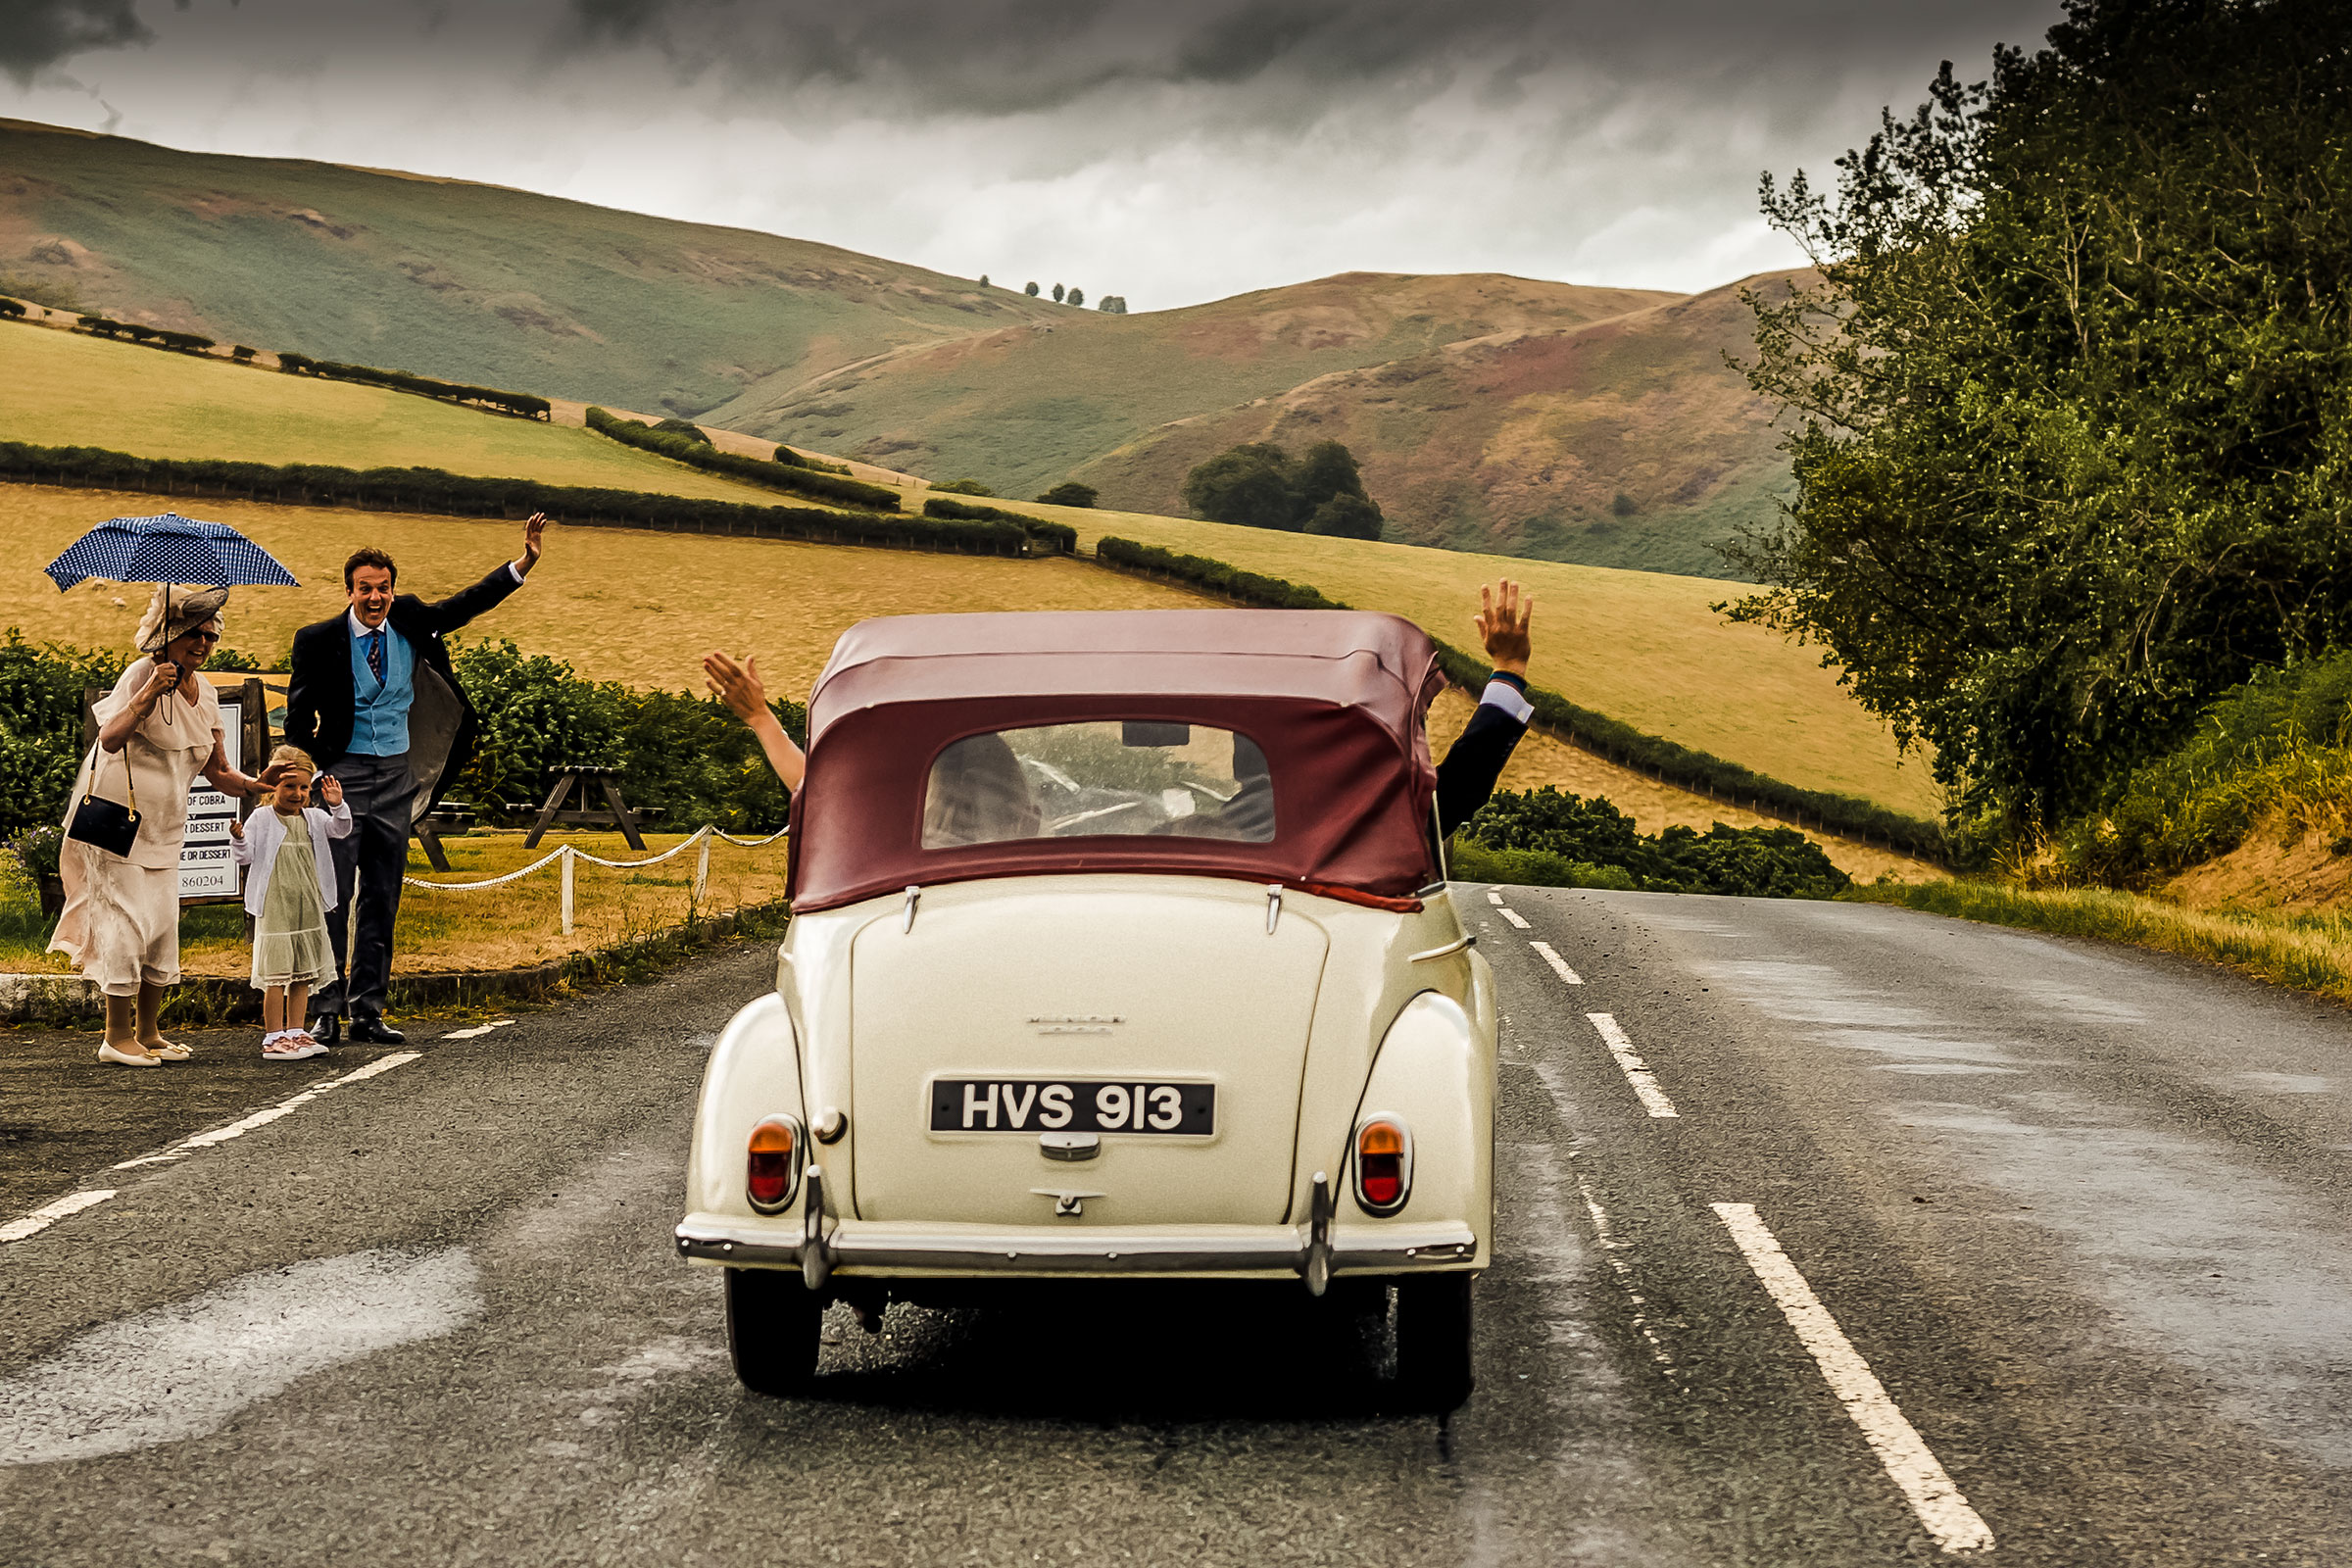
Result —
<instances>
[{"instance_id":1,"label":"diagonal hedge running down behind the raised hand on the right","mask_svg":"<svg viewBox=\"0 0 2352 1568\"><path fill-rule=\"evenodd\" d=\"M1112 567L1176 578L1247 604L1265 604L1270 609L1348 609L1305 583L1242 571L1204 555L1176 555L1157 545L1138 545L1131 538L1103 538L1094 545L1094 555ZM1449 682L1470 691L1484 686L1491 672L1484 658L1446 642L1437 644L1437 661ZM1526 701L1536 705L1538 729L1583 745L1618 766L1649 773L1661 783L1710 795L1726 806L1745 806L1799 825L1813 825L1823 832L1886 844L1924 860L1940 863L1945 858L1943 827L1936 823L1853 795L1799 790L1797 785L1745 769L1738 762L1696 752L1663 736L1642 733L1632 724L1611 719L1609 715L1578 708L1557 691L1529 686Z\"/></svg>"}]
</instances>

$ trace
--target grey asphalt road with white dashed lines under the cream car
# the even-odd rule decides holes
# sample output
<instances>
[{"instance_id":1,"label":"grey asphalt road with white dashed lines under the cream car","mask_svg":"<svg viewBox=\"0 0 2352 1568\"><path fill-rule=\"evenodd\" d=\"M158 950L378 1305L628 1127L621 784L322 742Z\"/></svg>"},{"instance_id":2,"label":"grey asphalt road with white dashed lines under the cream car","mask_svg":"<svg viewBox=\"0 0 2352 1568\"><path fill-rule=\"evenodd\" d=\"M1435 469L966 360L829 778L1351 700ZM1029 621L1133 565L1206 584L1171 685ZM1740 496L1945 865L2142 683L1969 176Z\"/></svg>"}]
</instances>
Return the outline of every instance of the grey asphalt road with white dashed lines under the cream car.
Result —
<instances>
[{"instance_id":1,"label":"grey asphalt road with white dashed lines under the cream car","mask_svg":"<svg viewBox=\"0 0 2352 1568\"><path fill-rule=\"evenodd\" d=\"M743 1394L668 1229L760 950L273 1072L0 1037L0 1220L115 1194L0 1244L0 1561L2352 1561L2352 1018L1900 910L1505 896L1461 891L1508 1025L1444 1427L1291 1291L837 1312L818 1399Z\"/></svg>"}]
</instances>

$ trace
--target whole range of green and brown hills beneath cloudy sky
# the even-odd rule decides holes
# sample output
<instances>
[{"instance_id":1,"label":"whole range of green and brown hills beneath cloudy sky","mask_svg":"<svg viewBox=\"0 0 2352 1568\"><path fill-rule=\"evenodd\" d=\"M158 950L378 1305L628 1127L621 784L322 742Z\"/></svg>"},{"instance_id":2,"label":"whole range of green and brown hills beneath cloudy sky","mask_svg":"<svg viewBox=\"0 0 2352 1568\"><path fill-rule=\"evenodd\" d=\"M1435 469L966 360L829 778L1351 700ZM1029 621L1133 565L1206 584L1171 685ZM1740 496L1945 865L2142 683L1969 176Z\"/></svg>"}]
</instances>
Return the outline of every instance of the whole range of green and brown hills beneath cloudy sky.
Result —
<instances>
[{"instance_id":1,"label":"whole range of green and brown hills beneath cloudy sky","mask_svg":"<svg viewBox=\"0 0 2352 1568\"><path fill-rule=\"evenodd\" d=\"M1769 280L1766 280L1769 282ZM1388 538L1726 576L1788 470L1736 289L1348 273L1103 315L837 247L0 120L0 292L263 350L684 414L1025 496L1181 510L1345 440Z\"/></svg>"}]
</instances>

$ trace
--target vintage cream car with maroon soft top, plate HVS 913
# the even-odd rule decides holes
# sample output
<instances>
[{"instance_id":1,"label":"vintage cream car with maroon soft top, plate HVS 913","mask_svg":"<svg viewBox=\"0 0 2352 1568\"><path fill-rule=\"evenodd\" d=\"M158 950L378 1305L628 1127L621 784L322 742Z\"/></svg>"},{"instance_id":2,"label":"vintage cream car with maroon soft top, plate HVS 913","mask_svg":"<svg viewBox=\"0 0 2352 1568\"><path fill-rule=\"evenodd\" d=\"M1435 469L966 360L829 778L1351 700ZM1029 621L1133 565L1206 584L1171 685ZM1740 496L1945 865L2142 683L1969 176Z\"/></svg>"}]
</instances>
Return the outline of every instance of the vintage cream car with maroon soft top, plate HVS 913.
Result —
<instances>
[{"instance_id":1,"label":"vintage cream car with maroon soft top, plate HVS 913","mask_svg":"<svg viewBox=\"0 0 2352 1568\"><path fill-rule=\"evenodd\" d=\"M809 1387L830 1300L1150 1276L1329 1291L1392 1319L1390 1403L1470 1394L1496 1009L1439 684L1355 611L842 637L776 990L710 1056L677 1227L748 1387Z\"/></svg>"}]
</instances>

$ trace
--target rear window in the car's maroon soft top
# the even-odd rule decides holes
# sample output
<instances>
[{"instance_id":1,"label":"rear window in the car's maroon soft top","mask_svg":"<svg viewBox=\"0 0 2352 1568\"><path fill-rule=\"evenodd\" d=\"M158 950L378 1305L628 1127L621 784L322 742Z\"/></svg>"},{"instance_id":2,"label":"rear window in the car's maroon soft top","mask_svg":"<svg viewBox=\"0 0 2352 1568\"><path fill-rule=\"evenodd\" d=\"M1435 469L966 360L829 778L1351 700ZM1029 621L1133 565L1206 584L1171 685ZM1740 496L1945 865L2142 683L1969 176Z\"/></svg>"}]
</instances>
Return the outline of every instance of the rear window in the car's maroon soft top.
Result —
<instances>
[{"instance_id":1,"label":"rear window in the car's maroon soft top","mask_svg":"<svg viewBox=\"0 0 2352 1568\"><path fill-rule=\"evenodd\" d=\"M1275 785L1249 736L1103 719L964 736L922 795L922 846L1169 835L1268 844Z\"/></svg>"}]
</instances>

